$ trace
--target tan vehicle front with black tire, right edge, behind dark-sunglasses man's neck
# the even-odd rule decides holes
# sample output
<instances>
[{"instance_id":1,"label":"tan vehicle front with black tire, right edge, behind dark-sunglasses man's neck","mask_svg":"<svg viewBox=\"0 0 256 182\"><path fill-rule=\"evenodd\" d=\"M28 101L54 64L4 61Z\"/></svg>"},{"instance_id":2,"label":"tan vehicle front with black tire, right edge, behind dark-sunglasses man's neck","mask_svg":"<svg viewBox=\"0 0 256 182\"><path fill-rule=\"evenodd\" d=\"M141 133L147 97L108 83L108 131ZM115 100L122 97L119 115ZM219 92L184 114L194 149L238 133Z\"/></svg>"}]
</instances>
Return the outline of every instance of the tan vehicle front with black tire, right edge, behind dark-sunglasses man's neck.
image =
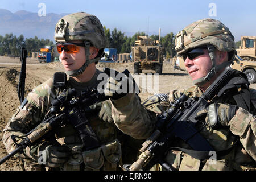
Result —
<instances>
[{"instance_id":1,"label":"tan vehicle front with black tire, right edge, behind dark-sunglasses man's neck","mask_svg":"<svg viewBox=\"0 0 256 182\"><path fill-rule=\"evenodd\" d=\"M240 56L236 55L231 67L245 73L251 84L256 82L256 61L243 60Z\"/></svg>"}]
</instances>

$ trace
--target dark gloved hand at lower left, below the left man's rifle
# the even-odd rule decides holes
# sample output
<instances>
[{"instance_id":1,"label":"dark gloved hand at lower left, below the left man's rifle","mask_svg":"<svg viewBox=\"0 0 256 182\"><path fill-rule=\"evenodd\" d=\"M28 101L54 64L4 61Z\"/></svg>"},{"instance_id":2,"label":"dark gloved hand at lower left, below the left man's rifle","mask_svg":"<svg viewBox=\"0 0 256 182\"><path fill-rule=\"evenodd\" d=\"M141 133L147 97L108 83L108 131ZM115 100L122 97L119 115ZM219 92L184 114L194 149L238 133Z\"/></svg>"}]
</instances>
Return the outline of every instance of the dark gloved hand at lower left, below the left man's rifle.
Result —
<instances>
[{"instance_id":1,"label":"dark gloved hand at lower left, below the left man's rifle","mask_svg":"<svg viewBox=\"0 0 256 182\"><path fill-rule=\"evenodd\" d=\"M60 167L69 160L71 149L61 145L40 146L39 158L42 158L42 163L47 167Z\"/></svg>"}]
</instances>

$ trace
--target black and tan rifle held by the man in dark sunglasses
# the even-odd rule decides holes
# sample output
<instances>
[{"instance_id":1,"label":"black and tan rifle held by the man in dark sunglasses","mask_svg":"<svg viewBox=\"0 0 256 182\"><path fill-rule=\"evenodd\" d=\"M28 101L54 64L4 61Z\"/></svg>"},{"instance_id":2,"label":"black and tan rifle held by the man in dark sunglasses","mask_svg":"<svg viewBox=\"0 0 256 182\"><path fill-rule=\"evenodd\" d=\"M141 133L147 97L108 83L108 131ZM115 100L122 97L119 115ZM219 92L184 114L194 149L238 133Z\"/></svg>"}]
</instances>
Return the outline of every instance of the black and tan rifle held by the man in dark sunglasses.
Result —
<instances>
[{"instance_id":1,"label":"black and tan rifle held by the man in dark sunglasses","mask_svg":"<svg viewBox=\"0 0 256 182\"><path fill-rule=\"evenodd\" d=\"M226 67L201 97L189 98L181 94L171 103L170 109L158 118L154 133L143 143L140 149L142 153L137 161L124 168L130 171L149 170L154 164L160 164L163 169L175 171L176 169L164 160L170 150L180 150L197 159L209 158L209 151L214 149L195 128L198 121L195 118L199 111L209 105L208 101L218 96L220 89L228 82L230 72L232 68ZM189 144L192 150L172 146L172 141L177 137Z\"/></svg>"}]
</instances>

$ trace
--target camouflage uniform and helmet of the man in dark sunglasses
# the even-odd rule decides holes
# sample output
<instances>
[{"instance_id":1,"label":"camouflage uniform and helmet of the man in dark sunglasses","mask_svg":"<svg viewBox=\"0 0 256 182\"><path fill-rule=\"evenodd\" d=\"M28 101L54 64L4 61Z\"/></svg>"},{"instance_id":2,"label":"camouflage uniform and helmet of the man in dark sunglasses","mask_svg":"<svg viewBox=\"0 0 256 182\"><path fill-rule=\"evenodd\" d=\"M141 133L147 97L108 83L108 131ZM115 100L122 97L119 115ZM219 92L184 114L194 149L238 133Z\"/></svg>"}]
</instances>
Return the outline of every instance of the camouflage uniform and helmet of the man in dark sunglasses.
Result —
<instances>
[{"instance_id":1,"label":"camouflage uniform and helmet of the man in dark sunglasses","mask_svg":"<svg viewBox=\"0 0 256 182\"><path fill-rule=\"evenodd\" d=\"M144 101L142 105L131 98L130 102L133 102L134 105L130 110L123 109L122 107L112 107L113 115L119 113L118 118L113 118L114 121L121 121L123 123L133 120L143 123L143 120L146 119L152 119L156 121L157 116L168 109L168 103L173 102L175 98L180 96L180 92L187 94L189 97L201 96L203 91L199 86L204 85L207 81L209 81L214 76L214 73L217 73L227 65L231 64L234 58L234 54L236 53L236 45L234 43L233 35L229 29L218 20L203 19L194 22L184 28L183 31L180 31L176 37L175 49L180 55L184 55L187 51L198 48L200 46L208 48L209 57L212 60L212 69L208 75L195 80L194 84L197 86L193 86L192 88L185 90L172 90L168 94L168 100L166 101L160 100L159 96L152 96ZM216 65L214 49L228 52L229 60L222 64ZM237 76L241 74L241 72L237 73ZM230 77L230 80L232 79L233 78ZM247 83L248 82L246 81L244 82L245 85ZM237 84L233 89L237 89L237 91L240 92L241 85ZM209 123L204 121L204 119L201 119L196 123L196 129L200 129L200 134L208 140L209 144L214 148L214 151L224 150L228 151L227 154L223 156L217 156L217 160L199 160L193 158L191 155L185 152L177 151L177 149L170 149L170 151L168 151L167 155L165 156L166 162L178 170L255 169L256 90L250 89L248 93L250 94L250 110L247 111L242 109L242 107L238 107L239 109L237 110L237 113L234 115L234 117L230 121L226 121L227 127L221 129L212 129ZM233 98L234 94L235 93L230 92L229 89L226 89L220 97L214 97L212 102L238 105L236 100ZM135 115L131 113L135 113ZM191 150L191 147L179 138L175 138L172 146L187 148Z\"/></svg>"}]
</instances>

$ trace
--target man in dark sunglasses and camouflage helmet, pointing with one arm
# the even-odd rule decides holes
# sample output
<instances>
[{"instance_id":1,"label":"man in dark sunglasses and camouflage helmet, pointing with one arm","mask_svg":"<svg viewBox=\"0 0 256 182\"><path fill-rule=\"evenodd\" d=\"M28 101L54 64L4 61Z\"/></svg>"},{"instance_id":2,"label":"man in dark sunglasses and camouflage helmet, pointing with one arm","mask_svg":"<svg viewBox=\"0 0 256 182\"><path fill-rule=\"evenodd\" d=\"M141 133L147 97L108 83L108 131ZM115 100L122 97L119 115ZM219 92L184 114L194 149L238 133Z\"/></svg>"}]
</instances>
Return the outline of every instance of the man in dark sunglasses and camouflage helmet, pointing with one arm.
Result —
<instances>
[{"instance_id":1,"label":"man in dark sunglasses and camouflage helmet, pointing with one arm","mask_svg":"<svg viewBox=\"0 0 256 182\"><path fill-rule=\"evenodd\" d=\"M198 20L185 27L176 35L175 49L183 56L195 86L171 90L168 94L155 94L142 105L134 105L133 111L113 107L114 111L122 113L120 120L125 120L129 115L126 113L134 112L138 121L143 118L156 121L157 116L168 109L168 104L179 98L181 92L189 97L200 97L224 68L232 64L236 54L232 33L215 19ZM212 158L204 158L200 156L201 151L193 151L184 140L175 138L172 140L175 149L170 149L164 160L175 169L186 171L255 170L256 90L250 89L249 85L243 73L232 70L229 81L218 96L210 101L207 109L197 113L199 122L196 122L196 129L214 148L217 156L209 154ZM138 113L142 107L147 110L143 117Z\"/></svg>"}]
</instances>

